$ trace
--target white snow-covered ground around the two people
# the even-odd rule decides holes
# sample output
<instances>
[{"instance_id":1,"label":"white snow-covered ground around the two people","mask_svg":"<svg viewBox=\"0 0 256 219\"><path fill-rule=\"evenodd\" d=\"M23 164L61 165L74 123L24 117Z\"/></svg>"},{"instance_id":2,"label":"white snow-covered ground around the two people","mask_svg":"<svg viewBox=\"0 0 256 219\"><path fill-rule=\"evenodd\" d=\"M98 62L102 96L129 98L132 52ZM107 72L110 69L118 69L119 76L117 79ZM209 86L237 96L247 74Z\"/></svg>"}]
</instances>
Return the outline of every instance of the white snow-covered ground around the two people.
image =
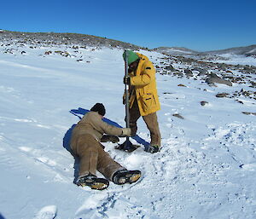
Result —
<instances>
[{"instance_id":1,"label":"white snow-covered ground around the two people","mask_svg":"<svg viewBox=\"0 0 256 219\"><path fill-rule=\"evenodd\" d=\"M101 192L73 184L63 141L79 118L69 111L102 102L106 117L125 126L122 52L0 47L0 218L256 218L256 117L241 113L256 112L255 100L215 96L247 84L210 87L157 74L161 152L123 153L105 143L120 164L142 170L142 180ZM143 53L160 65L163 55ZM143 119L138 126L148 141Z\"/></svg>"}]
</instances>

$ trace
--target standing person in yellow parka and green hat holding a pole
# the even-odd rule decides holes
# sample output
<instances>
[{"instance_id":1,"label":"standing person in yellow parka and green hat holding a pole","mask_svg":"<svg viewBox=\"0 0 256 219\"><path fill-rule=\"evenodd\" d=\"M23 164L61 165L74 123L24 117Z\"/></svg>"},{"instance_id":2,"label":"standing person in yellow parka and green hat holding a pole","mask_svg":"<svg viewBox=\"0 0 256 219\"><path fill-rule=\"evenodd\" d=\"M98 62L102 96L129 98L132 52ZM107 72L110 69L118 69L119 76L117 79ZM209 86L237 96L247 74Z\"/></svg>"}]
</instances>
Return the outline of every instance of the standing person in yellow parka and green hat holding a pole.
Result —
<instances>
[{"instance_id":1,"label":"standing person in yellow parka and green hat holding a pole","mask_svg":"<svg viewBox=\"0 0 256 219\"><path fill-rule=\"evenodd\" d=\"M157 153L160 151L161 135L156 112L160 110L160 101L157 95L154 66L145 55L131 50L126 50L125 53L123 57L124 60L126 57L129 69L124 84L129 85L131 136L136 135L137 119L142 116L151 138L147 152Z\"/></svg>"}]
</instances>

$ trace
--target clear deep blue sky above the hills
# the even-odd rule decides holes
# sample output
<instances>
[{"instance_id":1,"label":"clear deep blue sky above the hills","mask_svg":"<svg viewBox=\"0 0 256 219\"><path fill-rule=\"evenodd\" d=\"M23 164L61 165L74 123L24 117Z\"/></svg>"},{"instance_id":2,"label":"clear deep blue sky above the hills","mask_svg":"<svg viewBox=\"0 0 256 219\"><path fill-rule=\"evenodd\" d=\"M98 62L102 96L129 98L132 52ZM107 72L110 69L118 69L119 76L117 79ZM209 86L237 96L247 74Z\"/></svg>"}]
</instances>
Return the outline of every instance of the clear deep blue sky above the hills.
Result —
<instances>
[{"instance_id":1,"label":"clear deep blue sky above the hills","mask_svg":"<svg viewBox=\"0 0 256 219\"><path fill-rule=\"evenodd\" d=\"M3 0L0 29L76 32L154 49L256 44L256 1Z\"/></svg>"}]
</instances>

